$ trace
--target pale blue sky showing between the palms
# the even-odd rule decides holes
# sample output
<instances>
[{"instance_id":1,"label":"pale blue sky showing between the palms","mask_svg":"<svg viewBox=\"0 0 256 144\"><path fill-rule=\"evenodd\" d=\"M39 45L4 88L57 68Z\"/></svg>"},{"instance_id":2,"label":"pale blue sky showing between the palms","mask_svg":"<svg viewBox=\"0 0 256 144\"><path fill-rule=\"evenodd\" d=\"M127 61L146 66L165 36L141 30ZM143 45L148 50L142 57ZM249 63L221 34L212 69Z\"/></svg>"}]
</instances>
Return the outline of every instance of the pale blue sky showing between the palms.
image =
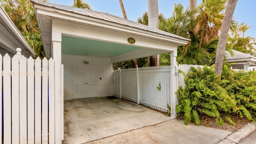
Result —
<instances>
[{"instance_id":1,"label":"pale blue sky showing between the palms","mask_svg":"<svg viewBox=\"0 0 256 144\"><path fill-rule=\"evenodd\" d=\"M71 6L74 0L49 0L51 3ZM127 18L137 22L137 18L142 17L142 14L148 11L148 0L122 0ZM99 12L107 12L123 18L119 0L84 0L88 3L92 10ZM202 0L197 0L199 5ZM172 15L174 4L181 3L184 8L189 6L189 0L158 0L158 12L164 14L165 18ZM245 36L256 38L256 0L238 0L236 9L233 15L238 24L244 22L249 28Z\"/></svg>"}]
</instances>

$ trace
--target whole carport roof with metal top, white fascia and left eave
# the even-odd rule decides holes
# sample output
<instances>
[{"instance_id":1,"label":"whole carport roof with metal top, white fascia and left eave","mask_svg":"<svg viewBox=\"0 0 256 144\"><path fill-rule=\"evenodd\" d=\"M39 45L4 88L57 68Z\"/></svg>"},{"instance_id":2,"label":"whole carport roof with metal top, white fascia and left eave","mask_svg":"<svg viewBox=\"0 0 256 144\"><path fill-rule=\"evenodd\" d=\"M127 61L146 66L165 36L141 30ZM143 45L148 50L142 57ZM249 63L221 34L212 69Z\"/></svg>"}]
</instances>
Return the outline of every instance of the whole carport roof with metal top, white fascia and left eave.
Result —
<instances>
[{"instance_id":1,"label":"whole carport roof with metal top, white fascia and left eave","mask_svg":"<svg viewBox=\"0 0 256 144\"><path fill-rule=\"evenodd\" d=\"M129 34L131 36L168 42L176 44L177 46L187 44L189 41L187 38L176 36L174 34L154 29L149 26L104 12L33 0L30 0L30 2L34 3L34 9L38 24L40 26L42 40L47 56L51 55L52 20L60 20L112 32Z\"/></svg>"}]
</instances>

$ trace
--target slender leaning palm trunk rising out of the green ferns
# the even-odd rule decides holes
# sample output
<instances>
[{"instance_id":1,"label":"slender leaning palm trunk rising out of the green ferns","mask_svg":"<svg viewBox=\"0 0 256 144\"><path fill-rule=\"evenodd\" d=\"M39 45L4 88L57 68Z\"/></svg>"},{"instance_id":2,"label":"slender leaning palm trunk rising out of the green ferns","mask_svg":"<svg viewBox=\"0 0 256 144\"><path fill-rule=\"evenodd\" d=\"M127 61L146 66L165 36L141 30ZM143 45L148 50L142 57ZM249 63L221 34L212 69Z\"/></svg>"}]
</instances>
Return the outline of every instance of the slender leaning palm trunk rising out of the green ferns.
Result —
<instances>
[{"instance_id":1,"label":"slender leaning palm trunk rising out of the green ferns","mask_svg":"<svg viewBox=\"0 0 256 144\"><path fill-rule=\"evenodd\" d=\"M216 60L215 60L215 67L214 67L214 73L217 73L220 77L222 74L224 54L225 54L226 43L228 39L228 30L230 28L232 16L234 14L237 1L238 0L228 0L224 18L222 21L222 26L220 29L220 39L219 39L217 50L216 50Z\"/></svg>"}]
</instances>

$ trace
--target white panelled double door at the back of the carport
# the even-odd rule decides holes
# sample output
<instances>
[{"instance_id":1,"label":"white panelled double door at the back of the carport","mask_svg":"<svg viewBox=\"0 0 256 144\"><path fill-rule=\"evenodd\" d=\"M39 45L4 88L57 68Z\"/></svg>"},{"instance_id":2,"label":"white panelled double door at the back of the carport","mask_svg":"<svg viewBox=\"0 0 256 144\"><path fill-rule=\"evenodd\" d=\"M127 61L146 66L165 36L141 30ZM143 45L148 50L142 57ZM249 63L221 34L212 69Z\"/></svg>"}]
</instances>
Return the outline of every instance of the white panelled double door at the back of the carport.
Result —
<instances>
[{"instance_id":1,"label":"white panelled double door at the back of the carport","mask_svg":"<svg viewBox=\"0 0 256 144\"><path fill-rule=\"evenodd\" d=\"M73 99L97 97L97 66L73 66Z\"/></svg>"}]
</instances>

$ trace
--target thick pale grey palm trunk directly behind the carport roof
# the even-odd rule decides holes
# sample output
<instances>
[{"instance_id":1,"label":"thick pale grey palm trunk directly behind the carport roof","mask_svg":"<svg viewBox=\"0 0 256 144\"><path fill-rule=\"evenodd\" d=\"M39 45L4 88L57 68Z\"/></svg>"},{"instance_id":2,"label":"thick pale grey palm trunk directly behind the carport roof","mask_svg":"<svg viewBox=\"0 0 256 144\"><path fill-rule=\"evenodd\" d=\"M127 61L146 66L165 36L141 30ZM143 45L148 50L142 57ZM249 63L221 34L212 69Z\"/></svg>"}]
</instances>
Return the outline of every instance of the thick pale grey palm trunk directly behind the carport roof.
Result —
<instances>
[{"instance_id":1,"label":"thick pale grey palm trunk directly behind the carport roof","mask_svg":"<svg viewBox=\"0 0 256 144\"><path fill-rule=\"evenodd\" d=\"M159 29L158 0L148 0L148 26ZM159 55L150 56L150 66L159 66Z\"/></svg>"}]
</instances>

